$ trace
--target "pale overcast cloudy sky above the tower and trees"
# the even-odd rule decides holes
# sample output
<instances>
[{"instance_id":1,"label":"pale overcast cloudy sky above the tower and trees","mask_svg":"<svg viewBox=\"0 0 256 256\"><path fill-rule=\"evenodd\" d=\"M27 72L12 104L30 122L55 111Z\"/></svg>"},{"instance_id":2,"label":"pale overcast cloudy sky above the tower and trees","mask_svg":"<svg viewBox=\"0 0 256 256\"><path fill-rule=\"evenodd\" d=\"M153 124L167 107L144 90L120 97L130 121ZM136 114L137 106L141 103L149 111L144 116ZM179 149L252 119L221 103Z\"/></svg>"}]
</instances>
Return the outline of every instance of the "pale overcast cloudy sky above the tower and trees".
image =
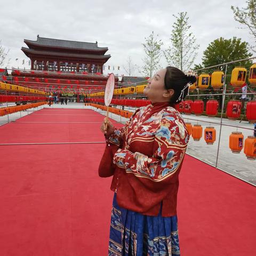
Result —
<instances>
[{"instance_id":1,"label":"pale overcast cloudy sky above the tower and trees","mask_svg":"<svg viewBox=\"0 0 256 256\"><path fill-rule=\"evenodd\" d=\"M151 31L159 35L164 45L170 44L170 35L175 18L172 14L188 12L191 32L200 44L195 63L201 63L207 45L219 37L242 38L255 44L247 29L238 29L231 5L245 7L245 0L18 0L4 1L0 14L0 39L10 49L9 67L23 68L22 60L28 61L20 50L26 46L23 40L41 37L95 42L108 47L111 58L106 65L120 66L119 75L125 74L123 66L129 55L133 63L142 65L143 48ZM15 61L19 58L19 61ZM162 57L162 66L166 66ZM28 65L25 65L29 68ZM115 70L114 73L117 73ZM126 74L125 74L126 75ZM138 72L134 75L139 75Z\"/></svg>"}]
</instances>

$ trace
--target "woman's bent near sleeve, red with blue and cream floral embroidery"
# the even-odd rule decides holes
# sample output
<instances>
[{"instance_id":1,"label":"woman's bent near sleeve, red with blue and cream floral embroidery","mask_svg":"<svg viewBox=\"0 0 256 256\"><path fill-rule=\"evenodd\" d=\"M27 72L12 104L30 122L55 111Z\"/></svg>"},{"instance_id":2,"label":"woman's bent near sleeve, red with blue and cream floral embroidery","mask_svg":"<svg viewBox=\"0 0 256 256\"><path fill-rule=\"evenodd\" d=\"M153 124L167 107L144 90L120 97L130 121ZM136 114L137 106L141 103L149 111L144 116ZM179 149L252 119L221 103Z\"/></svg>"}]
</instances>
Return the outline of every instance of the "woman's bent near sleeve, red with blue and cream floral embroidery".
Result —
<instances>
[{"instance_id":1,"label":"woman's bent near sleeve, red with blue and cream floral embroidery","mask_svg":"<svg viewBox=\"0 0 256 256\"><path fill-rule=\"evenodd\" d=\"M165 113L155 135L155 153L148 157L139 152L118 149L113 162L127 173L161 181L178 170L185 155L189 135L178 116Z\"/></svg>"}]
</instances>

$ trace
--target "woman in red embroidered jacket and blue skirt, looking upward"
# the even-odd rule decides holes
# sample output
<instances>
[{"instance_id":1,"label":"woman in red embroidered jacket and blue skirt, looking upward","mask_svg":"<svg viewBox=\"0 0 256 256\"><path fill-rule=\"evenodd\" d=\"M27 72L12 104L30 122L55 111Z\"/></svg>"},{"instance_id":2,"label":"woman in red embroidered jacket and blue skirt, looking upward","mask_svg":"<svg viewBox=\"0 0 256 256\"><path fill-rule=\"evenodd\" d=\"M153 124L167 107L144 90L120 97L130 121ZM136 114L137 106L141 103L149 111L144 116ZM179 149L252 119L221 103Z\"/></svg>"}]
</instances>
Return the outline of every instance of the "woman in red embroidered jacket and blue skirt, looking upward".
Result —
<instances>
[{"instance_id":1,"label":"woman in red embroidered jacket and blue skirt, looking upward","mask_svg":"<svg viewBox=\"0 0 256 256\"><path fill-rule=\"evenodd\" d=\"M180 255L178 175L189 135L174 104L194 82L195 76L177 68L161 69L143 92L150 105L137 109L119 130L106 118L102 123L107 146L99 175L114 174L115 191L108 255Z\"/></svg>"}]
</instances>

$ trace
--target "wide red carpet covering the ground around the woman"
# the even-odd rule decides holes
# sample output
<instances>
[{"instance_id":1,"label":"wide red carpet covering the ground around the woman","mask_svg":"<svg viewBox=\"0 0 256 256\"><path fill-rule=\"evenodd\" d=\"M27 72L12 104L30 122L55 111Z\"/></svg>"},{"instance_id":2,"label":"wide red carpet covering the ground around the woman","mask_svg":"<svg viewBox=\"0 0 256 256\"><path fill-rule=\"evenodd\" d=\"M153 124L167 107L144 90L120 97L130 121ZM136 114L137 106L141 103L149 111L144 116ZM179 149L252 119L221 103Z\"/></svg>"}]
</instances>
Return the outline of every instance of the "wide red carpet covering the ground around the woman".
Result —
<instances>
[{"instance_id":1,"label":"wide red carpet covering the ground around the woman","mask_svg":"<svg viewBox=\"0 0 256 256\"><path fill-rule=\"evenodd\" d=\"M43 109L0 127L0 143L103 141L102 119ZM113 193L97 173L104 146L0 146L1 256L107 255ZM255 254L255 187L186 156L178 197L181 255Z\"/></svg>"}]
</instances>

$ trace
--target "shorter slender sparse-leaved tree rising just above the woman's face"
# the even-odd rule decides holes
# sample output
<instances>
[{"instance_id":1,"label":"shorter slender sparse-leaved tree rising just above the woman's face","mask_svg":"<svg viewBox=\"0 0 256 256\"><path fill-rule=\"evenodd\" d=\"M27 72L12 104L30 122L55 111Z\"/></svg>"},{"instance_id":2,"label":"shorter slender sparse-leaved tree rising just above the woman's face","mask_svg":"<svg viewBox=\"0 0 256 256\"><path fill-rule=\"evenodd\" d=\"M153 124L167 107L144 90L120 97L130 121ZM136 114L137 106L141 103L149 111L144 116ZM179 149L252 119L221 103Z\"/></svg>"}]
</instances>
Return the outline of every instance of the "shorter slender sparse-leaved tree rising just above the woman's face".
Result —
<instances>
[{"instance_id":1,"label":"shorter slender sparse-leaved tree rising just above the woman's face","mask_svg":"<svg viewBox=\"0 0 256 256\"><path fill-rule=\"evenodd\" d=\"M142 66L141 73L145 76L151 77L160 68L159 63L163 42L161 39L158 40L157 37L158 35L155 37L154 31L152 31L148 37L145 37L146 42L142 44L146 57L142 59L144 65Z\"/></svg>"}]
</instances>

